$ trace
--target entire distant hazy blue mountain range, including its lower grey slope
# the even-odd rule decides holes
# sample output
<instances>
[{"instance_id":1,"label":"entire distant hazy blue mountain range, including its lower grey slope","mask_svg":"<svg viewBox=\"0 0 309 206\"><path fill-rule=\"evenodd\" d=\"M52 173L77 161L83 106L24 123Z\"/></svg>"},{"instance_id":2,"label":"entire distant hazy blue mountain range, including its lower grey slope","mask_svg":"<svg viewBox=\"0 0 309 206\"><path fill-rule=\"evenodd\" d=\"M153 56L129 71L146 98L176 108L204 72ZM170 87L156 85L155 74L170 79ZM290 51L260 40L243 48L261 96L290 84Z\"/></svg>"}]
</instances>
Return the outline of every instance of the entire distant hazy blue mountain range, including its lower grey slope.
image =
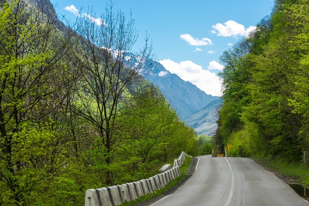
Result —
<instances>
[{"instance_id":1,"label":"entire distant hazy blue mountain range, including its lower grey slope","mask_svg":"<svg viewBox=\"0 0 309 206\"><path fill-rule=\"evenodd\" d=\"M207 95L191 82L166 70L159 62L151 61L152 71L145 78L161 90L186 125L198 134L214 135L221 98Z\"/></svg>"}]
</instances>

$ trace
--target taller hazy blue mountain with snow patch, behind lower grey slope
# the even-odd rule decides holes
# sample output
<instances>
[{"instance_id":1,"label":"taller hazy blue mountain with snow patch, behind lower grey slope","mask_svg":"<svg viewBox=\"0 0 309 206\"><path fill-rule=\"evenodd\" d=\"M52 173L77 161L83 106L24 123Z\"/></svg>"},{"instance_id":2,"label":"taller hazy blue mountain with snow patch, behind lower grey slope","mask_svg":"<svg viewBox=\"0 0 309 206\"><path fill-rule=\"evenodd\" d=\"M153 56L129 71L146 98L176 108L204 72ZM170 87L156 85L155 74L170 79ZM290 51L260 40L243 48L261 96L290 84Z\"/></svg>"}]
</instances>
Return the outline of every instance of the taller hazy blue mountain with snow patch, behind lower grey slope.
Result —
<instances>
[{"instance_id":1,"label":"taller hazy blue mountain with snow patch, behind lower grey slope","mask_svg":"<svg viewBox=\"0 0 309 206\"><path fill-rule=\"evenodd\" d=\"M220 99L207 95L194 84L170 73L157 61L152 62L152 71L145 78L157 86L182 120ZM186 122L186 121L185 121Z\"/></svg>"}]
</instances>

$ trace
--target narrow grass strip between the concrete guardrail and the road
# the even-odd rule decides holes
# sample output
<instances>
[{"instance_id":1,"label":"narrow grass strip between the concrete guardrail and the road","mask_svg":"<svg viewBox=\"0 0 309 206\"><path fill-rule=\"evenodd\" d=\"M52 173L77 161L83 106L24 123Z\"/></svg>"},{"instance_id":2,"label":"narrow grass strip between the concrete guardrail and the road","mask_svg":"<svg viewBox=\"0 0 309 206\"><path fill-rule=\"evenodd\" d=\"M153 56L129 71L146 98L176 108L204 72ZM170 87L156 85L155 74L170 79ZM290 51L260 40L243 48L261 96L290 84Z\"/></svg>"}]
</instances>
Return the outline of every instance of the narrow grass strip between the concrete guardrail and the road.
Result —
<instances>
[{"instance_id":1,"label":"narrow grass strip between the concrete guardrail and the road","mask_svg":"<svg viewBox=\"0 0 309 206\"><path fill-rule=\"evenodd\" d=\"M186 160L184 161L184 164L180 167L180 172L181 176L176 177L172 181L170 181L165 187L159 190L155 190L154 193L144 195L136 200L133 200L132 202L124 202L121 204L121 206L135 206L138 204L141 204L145 201L148 201L154 197L157 197L159 195L164 194L165 192L169 191L171 188L174 186L178 185L181 183L181 181L186 177L186 174L188 172L188 169L190 167L190 162L192 161L193 158L191 157L186 157Z\"/></svg>"}]
</instances>

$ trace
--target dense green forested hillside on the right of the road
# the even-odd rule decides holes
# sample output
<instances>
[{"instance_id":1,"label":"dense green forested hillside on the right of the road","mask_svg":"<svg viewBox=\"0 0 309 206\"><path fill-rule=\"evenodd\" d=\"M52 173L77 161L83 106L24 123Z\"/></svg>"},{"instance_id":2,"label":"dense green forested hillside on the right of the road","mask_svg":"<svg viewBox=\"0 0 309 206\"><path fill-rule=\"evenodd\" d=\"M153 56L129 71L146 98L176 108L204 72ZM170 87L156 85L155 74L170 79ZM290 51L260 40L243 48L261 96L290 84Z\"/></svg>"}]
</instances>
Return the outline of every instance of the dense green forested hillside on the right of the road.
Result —
<instances>
[{"instance_id":1,"label":"dense green forested hillside on the right of the road","mask_svg":"<svg viewBox=\"0 0 309 206\"><path fill-rule=\"evenodd\" d=\"M309 148L309 1L275 0L257 30L225 51L217 152L301 159Z\"/></svg>"}]
</instances>

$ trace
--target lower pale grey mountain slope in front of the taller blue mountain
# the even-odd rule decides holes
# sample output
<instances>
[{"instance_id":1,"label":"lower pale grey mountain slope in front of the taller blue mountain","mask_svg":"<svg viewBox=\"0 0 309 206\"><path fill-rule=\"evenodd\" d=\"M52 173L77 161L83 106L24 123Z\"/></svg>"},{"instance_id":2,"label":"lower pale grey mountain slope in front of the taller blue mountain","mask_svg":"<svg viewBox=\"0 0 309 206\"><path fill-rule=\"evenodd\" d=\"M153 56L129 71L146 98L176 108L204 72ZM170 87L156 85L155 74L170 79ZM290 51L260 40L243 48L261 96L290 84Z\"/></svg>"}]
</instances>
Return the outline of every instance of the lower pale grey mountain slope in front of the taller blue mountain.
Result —
<instances>
[{"instance_id":1,"label":"lower pale grey mountain slope in front of the taller blue mountain","mask_svg":"<svg viewBox=\"0 0 309 206\"><path fill-rule=\"evenodd\" d=\"M214 135L217 130L218 108L220 108L221 103L221 99L212 101L204 108L185 118L184 121L200 135Z\"/></svg>"}]
</instances>

